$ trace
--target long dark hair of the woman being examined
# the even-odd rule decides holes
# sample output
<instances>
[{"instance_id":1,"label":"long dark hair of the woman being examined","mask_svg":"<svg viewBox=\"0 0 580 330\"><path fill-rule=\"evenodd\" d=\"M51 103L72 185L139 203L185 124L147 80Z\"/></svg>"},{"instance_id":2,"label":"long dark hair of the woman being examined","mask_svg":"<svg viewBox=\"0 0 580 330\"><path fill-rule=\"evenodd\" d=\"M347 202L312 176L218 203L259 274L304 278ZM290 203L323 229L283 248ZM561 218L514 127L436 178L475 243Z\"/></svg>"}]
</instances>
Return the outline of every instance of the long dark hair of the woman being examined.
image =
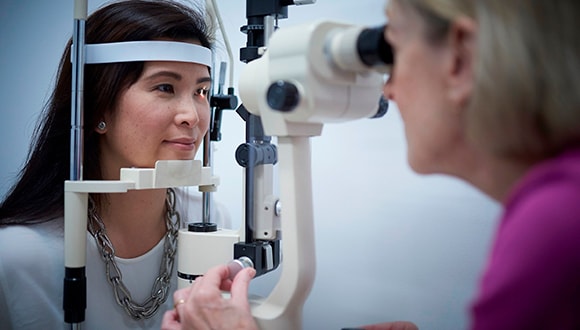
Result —
<instances>
[{"instance_id":1,"label":"long dark hair of the woman being examined","mask_svg":"<svg viewBox=\"0 0 580 330\"><path fill-rule=\"evenodd\" d=\"M87 44L139 41L198 41L212 48L213 29L199 8L160 0L126 0L87 18ZM60 60L54 91L36 127L25 166L0 205L0 225L32 224L64 214L64 181L70 172L71 48ZM135 83L144 62L85 66L83 177L101 179L99 135L94 128L114 111L120 93Z\"/></svg>"}]
</instances>

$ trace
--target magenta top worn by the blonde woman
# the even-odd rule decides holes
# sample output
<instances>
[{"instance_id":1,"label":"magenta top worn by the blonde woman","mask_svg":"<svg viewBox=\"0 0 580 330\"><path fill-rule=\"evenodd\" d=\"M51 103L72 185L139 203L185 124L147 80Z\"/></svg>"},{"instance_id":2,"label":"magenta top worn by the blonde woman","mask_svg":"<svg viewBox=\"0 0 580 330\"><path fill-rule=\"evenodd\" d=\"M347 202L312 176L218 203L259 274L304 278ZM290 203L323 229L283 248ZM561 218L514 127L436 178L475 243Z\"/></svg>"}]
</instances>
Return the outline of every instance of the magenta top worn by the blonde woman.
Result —
<instances>
[{"instance_id":1,"label":"magenta top worn by the blonde woman","mask_svg":"<svg viewBox=\"0 0 580 330\"><path fill-rule=\"evenodd\" d=\"M475 330L580 329L580 148L510 192L471 315Z\"/></svg>"}]
</instances>

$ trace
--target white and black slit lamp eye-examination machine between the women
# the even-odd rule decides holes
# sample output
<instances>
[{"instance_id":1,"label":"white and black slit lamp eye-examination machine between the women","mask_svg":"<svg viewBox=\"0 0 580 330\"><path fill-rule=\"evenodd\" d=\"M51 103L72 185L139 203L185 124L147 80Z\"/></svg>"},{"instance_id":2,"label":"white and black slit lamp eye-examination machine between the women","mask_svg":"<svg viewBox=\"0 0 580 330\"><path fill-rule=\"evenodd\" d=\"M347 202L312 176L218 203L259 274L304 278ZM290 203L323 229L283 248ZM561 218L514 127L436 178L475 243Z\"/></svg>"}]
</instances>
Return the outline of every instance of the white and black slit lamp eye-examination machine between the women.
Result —
<instances>
[{"instance_id":1,"label":"white and black slit lamp eye-examination machine between the women","mask_svg":"<svg viewBox=\"0 0 580 330\"><path fill-rule=\"evenodd\" d=\"M240 49L246 65L238 81L242 104L238 106L233 87L223 90L222 65L219 88L210 99L212 123L204 139L203 161L163 160L155 168L123 168L118 181L90 181L82 178L85 64L164 60L211 67L213 59L209 49L185 43L85 44L87 1L75 0L71 167L70 180L64 183L63 308L64 322L71 329L82 328L90 294L85 276L88 195L178 186L198 186L203 196L201 221L190 222L178 233L178 286L190 285L218 264L229 263L232 272L254 267L256 276L283 264L272 292L251 298L252 314L262 329L302 328L302 307L316 267L310 138L321 135L325 123L384 115L388 103L382 98L382 85L393 62L384 26L318 21L277 29L277 21L288 17L288 6L314 2L246 1L247 25L241 30L247 44ZM215 1L208 0L206 6L220 19ZM246 125L246 141L235 155L245 170L243 228L237 230L217 228L209 216L210 194L219 185L209 146L220 140L222 111L227 109L236 109ZM273 189L274 166L280 196Z\"/></svg>"}]
</instances>

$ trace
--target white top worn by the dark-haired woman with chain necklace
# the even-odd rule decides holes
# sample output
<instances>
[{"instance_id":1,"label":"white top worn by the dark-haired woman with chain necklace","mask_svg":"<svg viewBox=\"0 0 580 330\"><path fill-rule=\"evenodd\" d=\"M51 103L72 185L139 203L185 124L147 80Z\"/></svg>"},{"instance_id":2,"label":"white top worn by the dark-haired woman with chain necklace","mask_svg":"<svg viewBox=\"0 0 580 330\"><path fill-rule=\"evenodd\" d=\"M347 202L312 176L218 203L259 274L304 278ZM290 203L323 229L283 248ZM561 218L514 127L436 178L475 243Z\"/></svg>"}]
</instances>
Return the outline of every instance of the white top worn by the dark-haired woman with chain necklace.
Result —
<instances>
[{"instance_id":1,"label":"white top worn by the dark-haired woman with chain necklace","mask_svg":"<svg viewBox=\"0 0 580 330\"><path fill-rule=\"evenodd\" d=\"M176 208L182 223L201 221L201 195L197 187L176 189ZM212 208L212 222L230 227L224 207ZM144 255L116 258L133 300L143 302L151 293L163 255L161 240ZM0 229L0 328L64 329L62 290L64 280L63 220ZM173 308L177 288L177 256L171 290L164 305L150 319L135 321L114 298L105 266L94 238L87 232L87 309L83 329L160 329L165 311Z\"/></svg>"}]
</instances>

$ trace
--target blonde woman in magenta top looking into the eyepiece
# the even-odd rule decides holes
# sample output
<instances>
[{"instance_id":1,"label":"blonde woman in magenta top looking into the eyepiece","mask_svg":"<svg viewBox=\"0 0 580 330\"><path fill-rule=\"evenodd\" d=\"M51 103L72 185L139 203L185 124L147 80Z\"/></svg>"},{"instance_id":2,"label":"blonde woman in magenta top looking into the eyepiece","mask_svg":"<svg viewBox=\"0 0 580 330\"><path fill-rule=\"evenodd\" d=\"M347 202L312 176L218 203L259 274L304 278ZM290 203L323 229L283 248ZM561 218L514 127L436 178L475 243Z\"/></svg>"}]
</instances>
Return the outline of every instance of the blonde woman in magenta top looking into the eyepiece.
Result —
<instances>
[{"instance_id":1,"label":"blonde woman in magenta top looking into the eyepiece","mask_svg":"<svg viewBox=\"0 0 580 330\"><path fill-rule=\"evenodd\" d=\"M401 112L410 166L461 178L504 206L471 329L580 328L579 13L575 0L387 5L395 63L384 94ZM164 329L256 328L244 299L251 271L227 277L217 267L177 291L185 303ZM236 299L223 300L220 285Z\"/></svg>"}]
</instances>

